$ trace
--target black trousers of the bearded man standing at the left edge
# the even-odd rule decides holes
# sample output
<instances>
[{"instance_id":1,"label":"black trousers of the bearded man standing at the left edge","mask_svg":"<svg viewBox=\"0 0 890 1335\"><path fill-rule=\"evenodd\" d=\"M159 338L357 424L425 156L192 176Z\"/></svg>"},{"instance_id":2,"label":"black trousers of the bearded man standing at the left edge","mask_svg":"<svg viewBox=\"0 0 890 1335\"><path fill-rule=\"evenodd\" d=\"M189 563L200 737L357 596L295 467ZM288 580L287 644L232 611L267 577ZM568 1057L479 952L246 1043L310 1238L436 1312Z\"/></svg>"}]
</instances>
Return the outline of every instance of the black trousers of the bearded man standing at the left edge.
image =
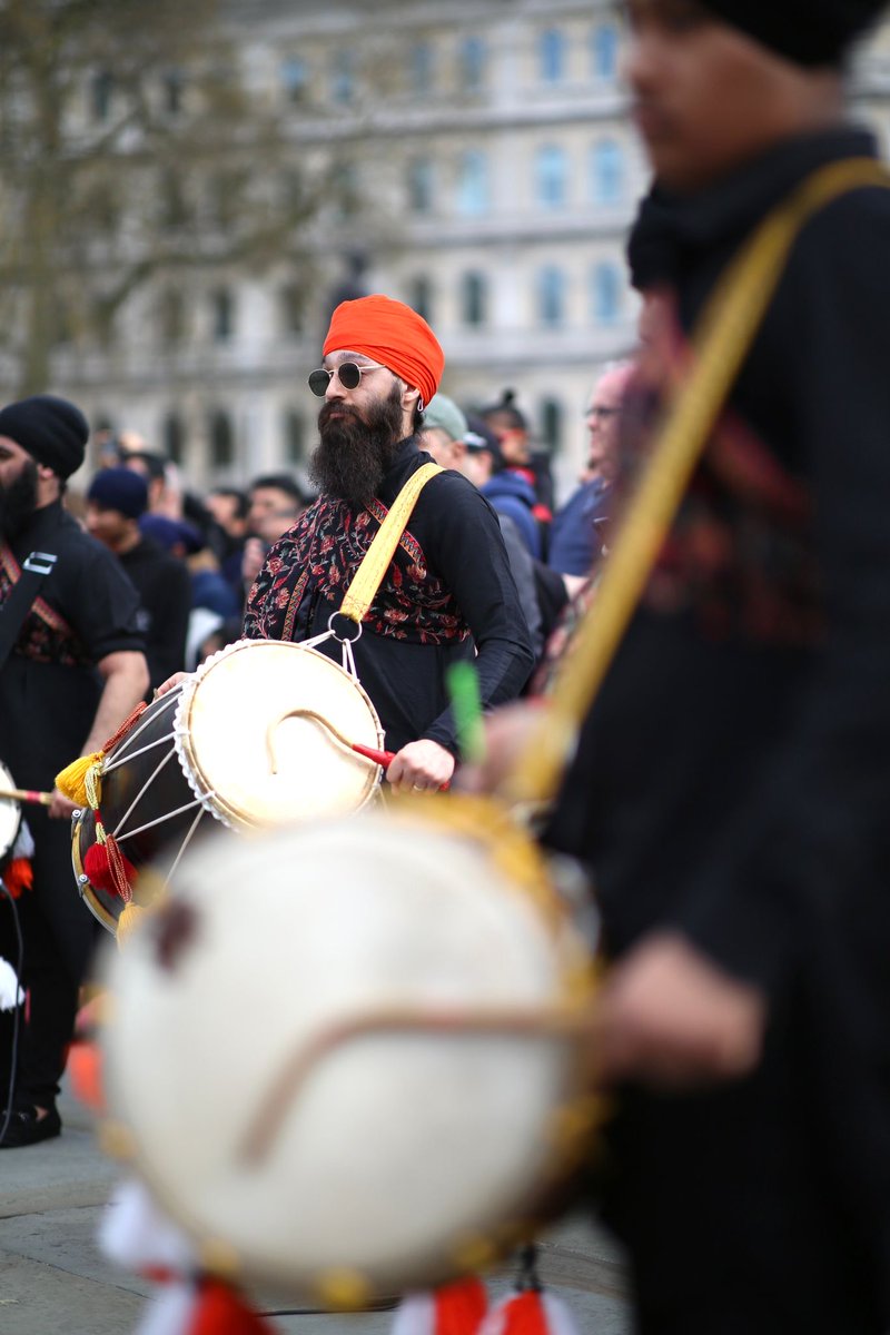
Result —
<instances>
[{"instance_id":1,"label":"black trousers of the bearded man standing at the left edge","mask_svg":"<svg viewBox=\"0 0 890 1335\"><path fill-rule=\"evenodd\" d=\"M21 981L29 992L20 1019L15 1103L51 1107L59 1093L73 1035L77 993L87 975L99 924L77 894L67 821L27 809L35 838L35 886L16 901L24 941ZM16 964L9 904L0 902L0 955ZM0 1105L5 1105L12 1061L12 1013L0 1015Z\"/></svg>"}]
</instances>

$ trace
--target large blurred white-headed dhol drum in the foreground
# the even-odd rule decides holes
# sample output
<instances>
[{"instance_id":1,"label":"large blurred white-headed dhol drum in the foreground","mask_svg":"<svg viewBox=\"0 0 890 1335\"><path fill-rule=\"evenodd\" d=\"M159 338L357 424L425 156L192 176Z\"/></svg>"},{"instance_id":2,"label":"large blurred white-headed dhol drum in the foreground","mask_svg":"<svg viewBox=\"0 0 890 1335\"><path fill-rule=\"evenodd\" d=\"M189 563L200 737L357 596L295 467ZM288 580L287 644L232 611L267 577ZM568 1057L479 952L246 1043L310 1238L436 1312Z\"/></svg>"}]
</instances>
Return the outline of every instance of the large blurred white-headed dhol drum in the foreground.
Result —
<instances>
[{"instance_id":1,"label":"large blurred white-headed dhol drum in the foreground","mask_svg":"<svg viewBox=\"0 0 890 1335\"><path fill-rule=\"evenodd\" d=\"M105 981L107 1144L232 1282L364 1307L476 1270L590 1145L590 952L490 804L215 834Z\"/></svg>"}]
</instances>

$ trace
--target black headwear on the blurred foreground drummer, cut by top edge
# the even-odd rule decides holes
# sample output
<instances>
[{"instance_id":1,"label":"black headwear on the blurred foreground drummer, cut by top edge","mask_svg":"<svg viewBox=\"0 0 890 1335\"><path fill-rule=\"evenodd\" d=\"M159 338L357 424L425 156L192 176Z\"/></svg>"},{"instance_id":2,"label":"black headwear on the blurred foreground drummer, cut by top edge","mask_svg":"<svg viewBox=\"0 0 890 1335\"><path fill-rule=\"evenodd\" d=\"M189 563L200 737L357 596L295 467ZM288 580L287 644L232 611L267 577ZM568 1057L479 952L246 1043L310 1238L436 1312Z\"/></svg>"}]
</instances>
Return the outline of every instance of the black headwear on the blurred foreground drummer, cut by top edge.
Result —
<instances>
[{"instance_id":1,"label":"black headwear on the blurred foreground drummer, cut by top edge","mask_svg":"<svg viewBox=\"0 0 890 1335\"><path fill-rule=\"evenodd\" d=\"M701 0L749 37L797 65L838 65L887 0Z\"/></svg>"}]
</instances>

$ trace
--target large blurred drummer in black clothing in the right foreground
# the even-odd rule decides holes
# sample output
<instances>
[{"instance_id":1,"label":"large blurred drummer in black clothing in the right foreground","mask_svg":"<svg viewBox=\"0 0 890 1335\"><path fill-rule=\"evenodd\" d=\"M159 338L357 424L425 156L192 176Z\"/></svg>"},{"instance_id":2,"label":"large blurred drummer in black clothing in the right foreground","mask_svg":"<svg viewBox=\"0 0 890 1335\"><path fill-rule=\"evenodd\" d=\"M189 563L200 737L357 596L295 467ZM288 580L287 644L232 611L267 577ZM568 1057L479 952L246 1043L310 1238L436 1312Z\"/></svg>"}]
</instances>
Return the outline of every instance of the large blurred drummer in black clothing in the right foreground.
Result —
<instances>
[{"instance_id":1,"label":"large blurred drummer in black clothing in the right foreground","mask_svg":"<svg viewBox=\"0 0 890 1335\"><path fill-rule=\"evenodd\" d=\"M865 166L793 244L546 836L591 868L610 961L602 1207L640 1335L886 1335L890 190L841 76L882 5L626 9L655 174L631 260L663 318L624 494L742 244Z\"/></svg>"}]
</instances>

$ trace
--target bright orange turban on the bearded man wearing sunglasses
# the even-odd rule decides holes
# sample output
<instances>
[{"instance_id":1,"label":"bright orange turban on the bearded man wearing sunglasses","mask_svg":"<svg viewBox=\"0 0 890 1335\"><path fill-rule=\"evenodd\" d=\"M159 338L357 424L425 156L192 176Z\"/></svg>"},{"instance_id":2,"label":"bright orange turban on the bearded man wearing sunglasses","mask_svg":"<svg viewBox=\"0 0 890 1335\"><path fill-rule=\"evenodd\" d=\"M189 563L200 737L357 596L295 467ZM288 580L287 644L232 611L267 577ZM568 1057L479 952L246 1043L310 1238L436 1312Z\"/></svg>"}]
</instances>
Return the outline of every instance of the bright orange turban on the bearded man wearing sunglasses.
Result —
<instances>
[{"instance_id":1,"label":"bright orange turban on the bearded man wearing sunglasses","mask_svg":"<svg viewBox=\"0 0 890 1335\"><path fill-rule=\"evenodd\" d=\"M420 390L428 403L439 388L444 352L427 322L391 296L359 296L340 302L324 339L328 352L362 352L388 367L407 384Z\"/></svg>"}]
</instances>

